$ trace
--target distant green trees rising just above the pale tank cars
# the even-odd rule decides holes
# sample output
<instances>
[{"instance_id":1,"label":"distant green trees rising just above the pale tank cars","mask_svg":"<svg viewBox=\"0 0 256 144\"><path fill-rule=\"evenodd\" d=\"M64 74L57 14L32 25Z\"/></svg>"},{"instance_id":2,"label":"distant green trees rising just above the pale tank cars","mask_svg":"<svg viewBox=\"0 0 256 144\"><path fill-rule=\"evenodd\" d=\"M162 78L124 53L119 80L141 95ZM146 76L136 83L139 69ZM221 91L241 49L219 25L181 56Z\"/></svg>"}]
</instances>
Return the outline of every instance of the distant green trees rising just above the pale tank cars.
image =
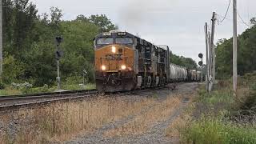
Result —
<instances>
[{"instance_id":1,"label":"distant green trees rising just above the pale tank cars","mask_svg":"<svg viewBox=\"0 0 256 144\"><path fill-rule=\"evenodd\" d=\"M185 58L182 56L178 56L178 55L172 54L172 52L170 52L170 62L178 66L185 66L190 70L196 70L198 67L197 63L194 62L192 58Z\"/></svg>"}]
</instances>

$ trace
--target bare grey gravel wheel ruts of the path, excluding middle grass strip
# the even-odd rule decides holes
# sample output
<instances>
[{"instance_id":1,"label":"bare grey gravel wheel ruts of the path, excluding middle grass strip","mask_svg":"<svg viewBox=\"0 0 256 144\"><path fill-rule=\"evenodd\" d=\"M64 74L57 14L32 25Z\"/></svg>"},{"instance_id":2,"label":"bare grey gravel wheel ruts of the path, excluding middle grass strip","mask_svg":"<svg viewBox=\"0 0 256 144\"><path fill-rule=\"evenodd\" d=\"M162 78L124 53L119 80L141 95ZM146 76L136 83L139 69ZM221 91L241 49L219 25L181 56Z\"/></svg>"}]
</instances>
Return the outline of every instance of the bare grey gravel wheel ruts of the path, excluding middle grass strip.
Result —
<instances>
[{"instance_id":1,"label":"bare grey gravel wheel ruts of the path, excluding middle grass strip","mask_svg":"<svg viewBox=\"0 0 256 144\"><path fill-rule=\"evenodd\" d=\"M176 87L176 90L172 90ZM175 106L174 110L168 115L167 118L158 120L158 122L150 123L149 129L146 129L142 134L126 134L126 135L114 135L112 137L106 137L106 132L117 129L118 127L124 127L129 122L135 122L134 119L138 116L146 114L149 110L156 105L146 106L138 114L130 115L126 118L119 119L115 122L111 122L94 130L91 134L80 135L78 138L74 138L66 144L73 143L179 143L178 139L167 138L167 127L182 114L182 110L186 108L187 101L193 96L194 92L198 88L198 83L178 83L171 84L161 90L148 90L140 94L130 94L130 97L138 98L139 96L156 97L156 101L165 102L167 99L174 98L179 95L182 97L182 102Z\"/></svg>"}]
</instances>

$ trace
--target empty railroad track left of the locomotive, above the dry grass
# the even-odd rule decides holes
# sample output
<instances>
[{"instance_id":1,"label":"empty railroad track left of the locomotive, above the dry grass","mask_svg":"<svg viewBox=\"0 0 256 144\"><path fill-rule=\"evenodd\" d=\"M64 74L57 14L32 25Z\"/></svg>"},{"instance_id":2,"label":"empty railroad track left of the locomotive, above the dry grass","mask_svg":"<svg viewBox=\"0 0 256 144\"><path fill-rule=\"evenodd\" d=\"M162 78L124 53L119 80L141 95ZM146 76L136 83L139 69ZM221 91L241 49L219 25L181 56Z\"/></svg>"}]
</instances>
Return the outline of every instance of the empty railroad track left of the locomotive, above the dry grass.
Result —
<instances>
[{"instance_id":1,"label":"empty railroad track left of the locomotive, above the dry grass","mask_svg":"<svg viewBox=\"0 0 256 144\"><path fill-rule=\"evenodd\" d=\"M54 102L69 102L82 98L91 98L97 94L97 90L72 90L44 94L0 96L0 112L49 105Z\"/></svg>"}]
</instances>

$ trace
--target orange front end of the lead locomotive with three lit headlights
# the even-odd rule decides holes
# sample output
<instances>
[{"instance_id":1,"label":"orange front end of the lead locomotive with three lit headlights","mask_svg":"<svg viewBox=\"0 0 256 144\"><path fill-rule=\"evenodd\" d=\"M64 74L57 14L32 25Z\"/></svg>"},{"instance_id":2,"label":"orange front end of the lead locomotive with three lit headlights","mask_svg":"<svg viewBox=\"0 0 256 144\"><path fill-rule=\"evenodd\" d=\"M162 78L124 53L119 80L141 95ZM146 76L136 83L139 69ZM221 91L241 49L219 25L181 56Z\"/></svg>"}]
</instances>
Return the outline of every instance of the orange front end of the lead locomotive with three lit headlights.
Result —
<instances>
[{"instance_id":1,"label":"orange front end of the lead locomotive with three lit headlights","mask_svg":"<svg viewBox=\"0 0 256 144\"><path fill-rule=\"evenodd\" d=\"M134 36L126 32L102 33L94 39L98 90L134 89L134 46Z\"/></svg>"}]
</instances>

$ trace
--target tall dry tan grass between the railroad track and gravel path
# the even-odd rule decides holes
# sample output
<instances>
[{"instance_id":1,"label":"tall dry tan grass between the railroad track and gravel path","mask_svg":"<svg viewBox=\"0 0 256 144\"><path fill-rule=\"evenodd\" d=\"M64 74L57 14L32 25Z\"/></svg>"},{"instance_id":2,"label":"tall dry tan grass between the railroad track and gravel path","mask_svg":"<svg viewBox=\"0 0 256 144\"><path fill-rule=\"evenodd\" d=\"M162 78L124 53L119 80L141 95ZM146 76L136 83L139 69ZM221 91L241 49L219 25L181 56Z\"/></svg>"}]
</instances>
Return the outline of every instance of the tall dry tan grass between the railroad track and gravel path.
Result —
<instances>
[{"instance_id":1,"label":"tall dry tan grass between the railroad track and gravel path","mask_svg":"<svg viewBox=\"0 0 256 144\"><path fill-rule=\"evenodd\" d=\"M34 110L0 115L6 127L0 143L49 143L69 139L79 133L90 133L100 126L138 113L150 105L146 98L92 98L82 102L57 103ZM8 126L13 126L11 129ZM17 130L15 133L11 130Z\"/></svg>"}]
</instances>

